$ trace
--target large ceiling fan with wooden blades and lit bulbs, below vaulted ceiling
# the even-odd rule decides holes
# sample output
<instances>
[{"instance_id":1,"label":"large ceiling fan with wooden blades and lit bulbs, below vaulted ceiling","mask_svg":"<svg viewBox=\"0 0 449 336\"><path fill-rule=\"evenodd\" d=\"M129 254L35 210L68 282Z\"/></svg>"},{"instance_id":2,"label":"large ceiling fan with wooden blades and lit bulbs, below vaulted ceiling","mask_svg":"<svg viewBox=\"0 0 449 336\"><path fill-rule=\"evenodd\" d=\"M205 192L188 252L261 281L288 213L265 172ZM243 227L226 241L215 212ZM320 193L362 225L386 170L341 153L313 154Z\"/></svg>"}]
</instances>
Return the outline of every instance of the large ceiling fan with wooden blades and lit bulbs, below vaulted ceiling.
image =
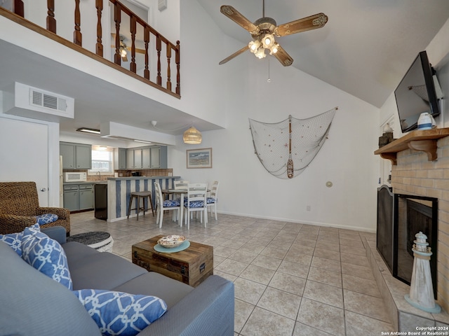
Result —
<instances>
[{"instance_id":1,"label":"large ceiling fan with wooden blades and lit bulbs, below vaulted ceiling","mask_svg":"<svg viewBox=\"0 0 449 336\"><path fill-rule=\"evenodd\" d=\"M246 50L250 50L258 58L264 58L267 54L265 50L269 51L270 55L276 57L283 66L289 66L293 63L293 58L288 55L279 43L274 39L274 36L281 37L290 34L300 33L311 29L317 29L324 27L328 22L327 15L323 13L308 16L292 22L284 23L283 25L276 26L276 21L272 18L265 17L265 1L262 0L262 18L255 20L254 23L250 22L241 13L239 13L232 6L221 6L220 12L226 15L229 19L236 22L237 25L243 27L250 32L253 37L253 41L250 41L248 45L241 48L241 50L234 52L223 59L219 64L225 64L234 57L240 55Z\"/></svg>"}]
</instances>

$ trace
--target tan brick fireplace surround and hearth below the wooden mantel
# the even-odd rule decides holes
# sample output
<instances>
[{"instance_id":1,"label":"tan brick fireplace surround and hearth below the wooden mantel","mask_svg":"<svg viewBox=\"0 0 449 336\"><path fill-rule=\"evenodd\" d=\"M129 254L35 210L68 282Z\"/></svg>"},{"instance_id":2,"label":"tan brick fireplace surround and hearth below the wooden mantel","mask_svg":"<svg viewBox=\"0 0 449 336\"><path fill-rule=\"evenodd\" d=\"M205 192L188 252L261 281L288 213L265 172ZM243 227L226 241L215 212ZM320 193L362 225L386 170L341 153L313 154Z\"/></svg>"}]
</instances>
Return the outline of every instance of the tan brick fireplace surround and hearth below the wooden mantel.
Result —
<instances>
[{"instance_id":1,"label":"tan brick fireplace surround and hearth below the wooden mantel","mask_svg":"<svg viewBox=\"0 0 449 336\"><path fill-rule=\"evenodd\" d=\"M438 139L436 161L429 161L422 151L406 149L397 153L397 165L392 165L391 186L394 193L436 197L438 199L438 260L437 290L441 314L429 314L412 307L403 295L410 286L391 276L375 244L366 242L377 285L383 295L392 323L400 332L417 332L418 327L449 326L449 137ZM373 242L374 243L374 242ZM447 334L436 334L447 335Z\"/></svg>"}]
</instances>

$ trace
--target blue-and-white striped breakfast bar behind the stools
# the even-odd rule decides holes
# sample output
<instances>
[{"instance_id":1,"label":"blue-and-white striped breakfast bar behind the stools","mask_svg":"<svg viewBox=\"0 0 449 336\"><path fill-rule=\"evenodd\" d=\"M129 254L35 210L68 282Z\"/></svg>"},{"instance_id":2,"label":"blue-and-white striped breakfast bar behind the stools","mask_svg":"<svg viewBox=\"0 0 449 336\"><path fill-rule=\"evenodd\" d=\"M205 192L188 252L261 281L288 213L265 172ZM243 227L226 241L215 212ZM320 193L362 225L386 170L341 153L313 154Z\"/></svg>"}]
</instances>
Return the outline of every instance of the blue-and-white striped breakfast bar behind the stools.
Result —
<instances>
[{"instance_id":1,"label":"blue-and-white striped breakfast bar behind the stools","mask_svg":"<svg viewBox=\"0 0 449 336\"><path fill-rule=\"evenodd\" d=\"M107 221L114 222L126 219L126 212L130 202L130 193L135 191L151 190L153 203L156 200L154 194L154 182L159 182L162 188L173 188L173 181L180 176L127 176L109 177L107 179ZM151 208L147 204L147 209ZM156 209L156 204L153 204ZM132 211L130 217L136 216Z\"/></svg>"}]
</instances>

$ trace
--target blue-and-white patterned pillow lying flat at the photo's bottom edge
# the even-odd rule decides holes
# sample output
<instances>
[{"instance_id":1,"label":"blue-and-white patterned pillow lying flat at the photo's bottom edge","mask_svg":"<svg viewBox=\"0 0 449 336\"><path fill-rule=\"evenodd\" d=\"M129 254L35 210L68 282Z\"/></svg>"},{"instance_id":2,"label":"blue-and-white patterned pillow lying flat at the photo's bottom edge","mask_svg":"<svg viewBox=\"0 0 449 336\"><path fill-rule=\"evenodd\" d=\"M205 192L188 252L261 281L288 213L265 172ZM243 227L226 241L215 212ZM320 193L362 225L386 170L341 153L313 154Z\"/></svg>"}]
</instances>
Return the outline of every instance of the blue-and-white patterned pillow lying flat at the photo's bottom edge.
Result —
<instances>
[{"instance_id":1,"label":"blue-and-white patterned pillow lying flat at the photo's bottom edge","mask_svg":"<svg viewBox=\"0 0 449 336\"><path fill-rule=\"evenodd\" d=\"M74 290L73 293L106 336L137 335L167 310L166 302L155 296L98 289Z\"/></svg>"}]
</instances>

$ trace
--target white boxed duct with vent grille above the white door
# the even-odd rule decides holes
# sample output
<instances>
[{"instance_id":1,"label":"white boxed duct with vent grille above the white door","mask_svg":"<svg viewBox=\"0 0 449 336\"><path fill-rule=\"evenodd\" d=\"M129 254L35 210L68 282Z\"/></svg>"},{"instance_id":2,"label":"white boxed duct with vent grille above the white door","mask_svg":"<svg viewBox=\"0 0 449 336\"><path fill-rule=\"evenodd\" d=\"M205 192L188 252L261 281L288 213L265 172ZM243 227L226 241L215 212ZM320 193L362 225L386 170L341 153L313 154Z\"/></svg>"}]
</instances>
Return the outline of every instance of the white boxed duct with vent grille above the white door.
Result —
<instances>
[{"instance_id":1,"label":"white boxed duct with vent grille above the white door","mask_svg":"<svg viewBox=\"0 0 449 336\"><path fill-rule=\"evenodd\" d=\"M18 82L14 83L12 90L5 92L5 113L56 123L61 117L74 118L74 98Z\"/></svg>"}]
</instances>

